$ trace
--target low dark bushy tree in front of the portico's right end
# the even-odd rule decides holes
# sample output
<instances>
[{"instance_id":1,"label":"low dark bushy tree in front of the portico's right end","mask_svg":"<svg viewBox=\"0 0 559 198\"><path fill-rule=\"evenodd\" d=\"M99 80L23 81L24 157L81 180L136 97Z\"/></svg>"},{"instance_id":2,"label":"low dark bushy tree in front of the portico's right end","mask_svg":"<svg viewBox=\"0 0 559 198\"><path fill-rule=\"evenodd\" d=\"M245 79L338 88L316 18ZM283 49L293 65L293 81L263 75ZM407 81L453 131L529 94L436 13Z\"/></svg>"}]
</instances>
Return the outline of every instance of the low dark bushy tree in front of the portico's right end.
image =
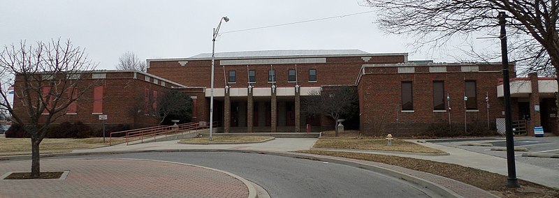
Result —
<instances>
[{"instance_id":1,"label":"low dark bushy tree in front of the portico's right end","mask_svg":"<svg viewBox=\"0 0 559 198\"><path fill-rule=\"evenodd\" d=\"M349 86L328 87L328 90L309 92L303 99L303 112L326 115L335 121L335 136L338 136L337 120L351 119L358 112L357 91Z\"/></svg>"}]
</instances>

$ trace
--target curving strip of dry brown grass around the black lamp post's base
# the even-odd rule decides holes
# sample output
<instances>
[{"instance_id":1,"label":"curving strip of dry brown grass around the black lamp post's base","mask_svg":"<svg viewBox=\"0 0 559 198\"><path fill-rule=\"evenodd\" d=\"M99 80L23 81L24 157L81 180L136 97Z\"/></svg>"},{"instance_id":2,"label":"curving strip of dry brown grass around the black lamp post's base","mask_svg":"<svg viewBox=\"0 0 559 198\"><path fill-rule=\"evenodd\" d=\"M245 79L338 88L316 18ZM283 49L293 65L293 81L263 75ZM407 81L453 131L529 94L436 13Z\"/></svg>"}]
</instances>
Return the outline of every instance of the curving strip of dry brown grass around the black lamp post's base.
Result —
<instances>
[{"instance_id":1,"label":"curving strip of dry brown grass around the black lamp post's base","mask_svg":"<svg viewBox=\"0 0 559 198\"><path fill-rule=\"evenodd\" d=\"M414 169L420 172L428 172L438 176L444 176L456 181L474 185L477 188L500 197L558 197L559 190L544 187L542 185L528 181L518 180L521 188L510 189L504 187L507 176L486 172L471 167L434 162L430 160L420 160L414 158L403 158L391 155L375 155L368 153L351 153L337 151L298 151L300 153L311 153L317 155L330 155L342 158L352 158L367 160L372 162L382 162L389 165Z\"/></svg>"}]
</instances>

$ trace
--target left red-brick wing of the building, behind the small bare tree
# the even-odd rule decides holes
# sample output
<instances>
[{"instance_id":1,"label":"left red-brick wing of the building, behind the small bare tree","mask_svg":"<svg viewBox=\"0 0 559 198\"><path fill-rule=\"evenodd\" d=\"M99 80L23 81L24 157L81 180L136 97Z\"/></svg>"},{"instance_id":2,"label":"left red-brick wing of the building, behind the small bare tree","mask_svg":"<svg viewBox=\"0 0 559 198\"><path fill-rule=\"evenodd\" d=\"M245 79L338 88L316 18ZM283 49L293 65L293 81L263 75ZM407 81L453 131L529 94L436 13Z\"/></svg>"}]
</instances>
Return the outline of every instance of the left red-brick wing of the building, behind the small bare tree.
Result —
<instances>
[{"instance_id":1,"label":"left red-brick wing of the building, behind the small bare tree","mask_svg":"<svg viewBox=\"0 0 559 198\"><path fill-rule=\"evenodd\" d=\"M109 127L129 125L131 128L142 128L158 125L159 120L149 108L155 104L154 98L173 87L184 87L168 79L134 70L85 71L75 78L80 78L81 82L72 88L73 91L71 89L64 91L72 92L68 93L68 97L71 97L69 96L71 94L77 95L78 92L83 95L68 106L66 112L60 112L63 115L55 124L80 121L99 129L101 128L99 115L107 115L106 124ZM52 80L57 80L57 77L53 77ZM41 89L43 93L48 93L52 87L43 86ZM21 91L22 79L18 76L15 80L13 106L14 111L20 115L25 114L26 111L22 107L22 100L18 100L17 97L22 96Z\"/></svg>"}]
</instances>

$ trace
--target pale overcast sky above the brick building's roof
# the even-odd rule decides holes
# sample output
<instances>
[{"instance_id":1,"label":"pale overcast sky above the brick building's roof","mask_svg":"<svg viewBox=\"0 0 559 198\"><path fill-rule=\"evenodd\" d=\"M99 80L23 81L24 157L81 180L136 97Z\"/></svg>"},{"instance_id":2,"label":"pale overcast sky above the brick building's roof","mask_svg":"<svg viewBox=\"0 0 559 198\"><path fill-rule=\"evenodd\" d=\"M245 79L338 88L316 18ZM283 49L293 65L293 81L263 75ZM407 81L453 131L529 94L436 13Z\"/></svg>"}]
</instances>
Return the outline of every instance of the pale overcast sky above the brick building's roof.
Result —
<instances>
[{"instance_id":1,"label":"pale overcast sky above the brick building's roof","mask_svg":"<svg viewBox=\"0 0 559 198\"><path fill-rule=\"evenodd\" d=\"M412 52L400 36L377 29L375 13L360 0L283 1L8 1L0 0L0 45L71 39L98 69L114 69L126 51L140 59L179 58L212 50L212 28L222 16L216 52L254 50L363 50ZM238 31L291 22L328 20ZM410 60L452 61L440 54Z\"/></svg>"}]
</instances>

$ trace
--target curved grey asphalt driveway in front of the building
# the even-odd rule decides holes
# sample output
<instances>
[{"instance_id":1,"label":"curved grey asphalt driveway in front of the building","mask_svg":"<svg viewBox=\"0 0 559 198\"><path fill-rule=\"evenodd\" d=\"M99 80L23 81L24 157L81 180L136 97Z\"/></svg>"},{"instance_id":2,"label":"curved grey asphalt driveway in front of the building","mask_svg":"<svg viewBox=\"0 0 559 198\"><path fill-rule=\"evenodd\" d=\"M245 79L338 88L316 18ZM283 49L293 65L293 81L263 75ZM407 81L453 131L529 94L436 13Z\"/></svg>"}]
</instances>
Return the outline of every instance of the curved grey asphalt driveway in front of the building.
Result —
<instances>
[{"instance_id":1,"label":"curved grey asphalt driveway in front of the building","mask_svg":"<svg viewBox=\"0 0 559 198\"><path fill-rule=\"evenodd\" d=\"M201 165L231 172L257 183L271 197L437 197L412 183L365 169L275 155L179 152L75 158L138 158Z\"/></svg>"}]
</instances>

